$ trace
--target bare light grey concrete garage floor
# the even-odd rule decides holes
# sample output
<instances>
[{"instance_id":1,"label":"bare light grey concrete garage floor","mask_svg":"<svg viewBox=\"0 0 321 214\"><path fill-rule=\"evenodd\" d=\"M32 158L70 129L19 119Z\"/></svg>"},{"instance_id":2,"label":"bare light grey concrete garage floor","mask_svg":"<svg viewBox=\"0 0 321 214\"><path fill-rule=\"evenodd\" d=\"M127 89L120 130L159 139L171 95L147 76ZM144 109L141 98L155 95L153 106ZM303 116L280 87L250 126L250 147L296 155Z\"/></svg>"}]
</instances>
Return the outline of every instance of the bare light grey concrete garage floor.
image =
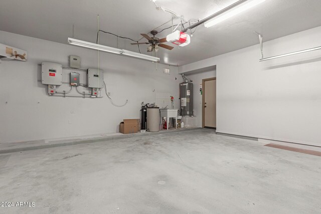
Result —
<instances>
[{"instance_id":1,"label":"bare light grey concrete garage floor","mask_svg":"<svg viewBox=\"0 0 321 214\"><path fill-rule=\"evenodd\" d=\"M321 157L198 129L0 155L0 213L320 213Z\"/></svg>"}]
</instances>

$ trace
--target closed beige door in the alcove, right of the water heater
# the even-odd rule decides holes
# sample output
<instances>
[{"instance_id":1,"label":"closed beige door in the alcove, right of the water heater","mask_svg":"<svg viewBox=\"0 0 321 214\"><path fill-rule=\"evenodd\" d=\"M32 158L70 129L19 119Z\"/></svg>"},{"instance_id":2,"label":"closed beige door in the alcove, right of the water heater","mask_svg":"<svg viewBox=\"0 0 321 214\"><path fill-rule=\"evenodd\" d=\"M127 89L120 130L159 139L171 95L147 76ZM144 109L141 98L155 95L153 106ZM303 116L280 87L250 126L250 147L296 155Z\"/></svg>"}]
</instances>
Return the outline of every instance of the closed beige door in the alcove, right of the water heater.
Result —
<instances>
[{"instance_id":1,"label":"closed beige door in the alcove, right of the water heater","mask_svg":"<svg viewBox=\"0 0 321 214\"><path fill-rule=\"evenodd\" d=\"M216 128L216 80L208 80L204 84L204 125Z\"/></svg>"}]
</instances>

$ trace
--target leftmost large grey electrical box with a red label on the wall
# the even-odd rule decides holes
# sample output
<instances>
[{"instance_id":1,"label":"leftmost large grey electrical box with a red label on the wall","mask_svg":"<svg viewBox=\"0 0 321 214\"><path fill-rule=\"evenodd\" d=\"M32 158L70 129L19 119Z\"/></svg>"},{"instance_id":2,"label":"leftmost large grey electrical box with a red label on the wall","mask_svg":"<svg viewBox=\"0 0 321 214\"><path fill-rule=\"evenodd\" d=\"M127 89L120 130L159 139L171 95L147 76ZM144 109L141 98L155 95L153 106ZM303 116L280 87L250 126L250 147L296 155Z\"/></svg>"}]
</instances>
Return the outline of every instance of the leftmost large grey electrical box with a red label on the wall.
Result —
<instances>
[{"instance_id":1,"label":"leftmost large grey electrical box with a red label on the wall","mask_svg":"<svg viewBox=\"0 0 321 214\"><path fill-rule=\"evenodd\" d=\"M41 79L45 85L62 85L62 65L42 62Z\"/></svg>"}]
</instances>

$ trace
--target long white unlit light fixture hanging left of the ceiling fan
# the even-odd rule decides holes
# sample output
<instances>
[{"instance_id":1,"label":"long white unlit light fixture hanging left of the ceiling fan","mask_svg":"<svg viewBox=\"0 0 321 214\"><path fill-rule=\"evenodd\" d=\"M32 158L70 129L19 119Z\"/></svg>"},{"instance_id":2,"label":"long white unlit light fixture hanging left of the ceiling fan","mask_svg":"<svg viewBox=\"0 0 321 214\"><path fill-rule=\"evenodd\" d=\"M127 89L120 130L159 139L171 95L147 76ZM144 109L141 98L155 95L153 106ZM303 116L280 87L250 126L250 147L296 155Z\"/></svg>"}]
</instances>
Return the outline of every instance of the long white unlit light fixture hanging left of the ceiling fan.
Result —
<instances>
[{"instance_id":1,"label":"long white unlit light fixture hanging left of the ceiling fan","mask_svg":"<svg viewBox=\"0 0 321 214\"><path fill-rule=\"evenodd\" d=\"M135 57L135 58L143 59L143 60L149 60L149 61L152 61L152 62L159 62L159 58L158 57L152 57L152 56L149 56L149 55L140 54L140 53L136 53L136 52L133 52L133 51L127 51L127 50L124 50L124 49L112 48L112 47L108 47L108 46L104 46L104 45L85 42L85 41L82 41L82 40L76 40L76 39L73 39L73 38L68 38L68 44L75 45L75 46L80 46L80 47L84 47L84 48L89 48L89 49L93 49L93 50L104 51L104 52L113 53L113 54L123 54L125 56Z\"/></svg>"}]
</instances>

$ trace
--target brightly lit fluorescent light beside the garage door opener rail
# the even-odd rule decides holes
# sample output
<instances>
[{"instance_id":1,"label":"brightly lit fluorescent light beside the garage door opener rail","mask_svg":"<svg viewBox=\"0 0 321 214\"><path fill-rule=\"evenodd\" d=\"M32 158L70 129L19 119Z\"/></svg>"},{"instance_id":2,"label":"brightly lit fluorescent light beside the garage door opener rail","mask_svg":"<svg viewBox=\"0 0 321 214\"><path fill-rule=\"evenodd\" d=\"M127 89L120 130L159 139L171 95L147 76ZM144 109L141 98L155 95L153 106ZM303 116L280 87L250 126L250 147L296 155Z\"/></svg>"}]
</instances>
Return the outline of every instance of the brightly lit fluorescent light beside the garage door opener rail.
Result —
<instances>
[{"instance_id":1,"label":"brightly lit fluorescent light beside the garage door opener rail","mask_svg":"<svg viewBox=\"0 0 321 214\"><path fill-rule=\"evenodd\" d=\"M246 1L245 3L235 7L235 8L232 8L231 10L217 16L217 17L214 17L213 19L207 21L206 23L204 23L204 26L209 28L209 27L212 27L220 22L223 22L224 20L227 20L237 14L240 14L262 2L265 2L265 0L248 0Z\"/></svg>"}]
</instances>

